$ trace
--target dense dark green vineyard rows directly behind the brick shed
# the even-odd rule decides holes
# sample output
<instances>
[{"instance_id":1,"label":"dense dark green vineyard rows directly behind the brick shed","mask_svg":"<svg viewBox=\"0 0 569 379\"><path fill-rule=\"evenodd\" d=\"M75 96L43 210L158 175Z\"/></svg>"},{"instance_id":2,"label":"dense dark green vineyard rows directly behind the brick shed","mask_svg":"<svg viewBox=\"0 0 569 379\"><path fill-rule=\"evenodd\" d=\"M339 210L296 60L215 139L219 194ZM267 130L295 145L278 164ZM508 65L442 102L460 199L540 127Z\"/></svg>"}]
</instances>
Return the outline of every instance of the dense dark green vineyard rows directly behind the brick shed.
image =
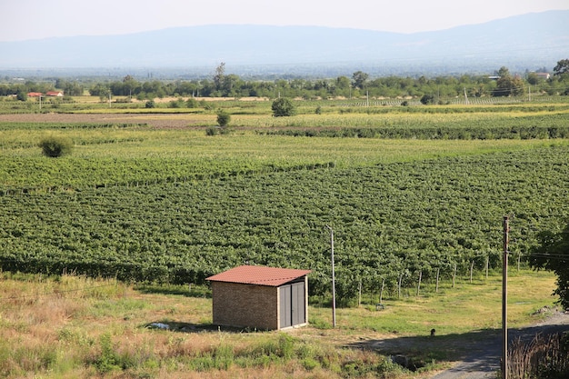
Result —
<instances>
[{"instance_id":1,"label":"dense dark green vineyard rows directly behind the brick shed","mask_svg":"<svg viewBox=\"0 0 569 379\"><path fill-rule=\"evenodd\" d=\"M569 217L569 147L411 163L0 196L3 270L205 283L237 264L313 270L338 297L500 264L501 220L524 257ZM246 173L245 173L246 174Z\"/></svg>"}]
</instances>

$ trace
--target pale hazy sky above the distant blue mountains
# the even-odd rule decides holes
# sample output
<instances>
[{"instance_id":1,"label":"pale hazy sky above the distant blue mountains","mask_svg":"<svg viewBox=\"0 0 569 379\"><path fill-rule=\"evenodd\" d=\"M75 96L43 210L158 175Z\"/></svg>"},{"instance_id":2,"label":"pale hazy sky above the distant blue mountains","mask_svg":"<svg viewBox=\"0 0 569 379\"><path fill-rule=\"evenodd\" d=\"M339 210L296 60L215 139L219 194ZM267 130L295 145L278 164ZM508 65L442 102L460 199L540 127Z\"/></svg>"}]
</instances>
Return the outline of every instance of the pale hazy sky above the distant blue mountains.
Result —
<instances>
[{"instance_id":1,"label":"pale hazy sky above the distant blue mountains","mask_svg":"<svg viewBox=\"0 0 569 379\"><path fill-rule=\"evenodd\" d=\"M414 33L553 9L569 9L569 1L0 0L0 41L212 24L319 25Z\"/></svg>"}]
</instances>

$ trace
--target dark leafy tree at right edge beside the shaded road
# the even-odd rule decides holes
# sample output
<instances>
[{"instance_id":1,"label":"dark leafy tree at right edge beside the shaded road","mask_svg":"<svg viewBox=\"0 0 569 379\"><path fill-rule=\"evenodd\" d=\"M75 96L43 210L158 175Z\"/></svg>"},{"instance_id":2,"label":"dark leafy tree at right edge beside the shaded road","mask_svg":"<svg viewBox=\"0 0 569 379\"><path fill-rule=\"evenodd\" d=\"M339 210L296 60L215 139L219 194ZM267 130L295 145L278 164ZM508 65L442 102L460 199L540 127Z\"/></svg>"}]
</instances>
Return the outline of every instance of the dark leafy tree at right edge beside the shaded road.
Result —
<instances>
[{"instance_id":1,"label":"dark leafy tree at right edge beside the shaded road","mask_svg":"<svg viewBox=\"0 0 569 379\"><path fill-rule=\"evenodd\" d=\"M538 235L539 245L530 256L530 264L536 269L543 268L557 275L559 304L569 309L569 224L559 233L545 231Z\"/></svg>"}]
</instances>

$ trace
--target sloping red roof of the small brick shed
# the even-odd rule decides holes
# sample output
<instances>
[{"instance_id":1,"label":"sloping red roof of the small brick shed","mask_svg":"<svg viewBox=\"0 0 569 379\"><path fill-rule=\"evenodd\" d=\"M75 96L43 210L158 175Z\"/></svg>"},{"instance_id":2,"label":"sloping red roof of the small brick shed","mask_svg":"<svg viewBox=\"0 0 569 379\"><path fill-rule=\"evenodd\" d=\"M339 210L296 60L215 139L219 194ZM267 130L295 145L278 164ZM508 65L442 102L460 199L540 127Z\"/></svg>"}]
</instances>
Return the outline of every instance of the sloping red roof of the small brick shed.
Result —
<instances>
[{"instance_id":1,"label":"sloping red roof of the small brick shed","mask_svg":"<svg viewBox=\"0 0 569 379\"><path fill-rule=\"evenodd\" d=\"M310 270L295 270L292 268L263 267L255 265L240 265L206 278L212 282L227 282L240 284L259 284L278 287L301 276L310 274Z\"/></svg>"}]
</instances>

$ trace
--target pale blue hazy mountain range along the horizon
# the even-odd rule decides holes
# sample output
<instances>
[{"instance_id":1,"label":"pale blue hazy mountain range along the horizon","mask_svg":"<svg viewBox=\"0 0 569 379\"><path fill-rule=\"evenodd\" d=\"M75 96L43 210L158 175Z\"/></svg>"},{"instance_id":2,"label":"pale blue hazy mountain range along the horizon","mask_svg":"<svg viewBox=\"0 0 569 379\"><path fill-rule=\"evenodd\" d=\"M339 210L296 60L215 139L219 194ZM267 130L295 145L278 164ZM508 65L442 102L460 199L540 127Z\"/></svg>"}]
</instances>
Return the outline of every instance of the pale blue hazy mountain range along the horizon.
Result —
<instances>
[{"instance_id":1,"label":"pale blue hazy mountain range along the horizon","mask_svg":"<svg viewBox=\"0 0 569 379\"><path fill-rule=\"evenodd\" d=\"M460 73L535 69L569 58L569 11L519 15L480 25L397 34L320 26L206 25L131 35L0 42L0 69L209 67L238 75L281 71ZM192 69L194 68L194 69Z\"/></svg>"}]
</instances>

